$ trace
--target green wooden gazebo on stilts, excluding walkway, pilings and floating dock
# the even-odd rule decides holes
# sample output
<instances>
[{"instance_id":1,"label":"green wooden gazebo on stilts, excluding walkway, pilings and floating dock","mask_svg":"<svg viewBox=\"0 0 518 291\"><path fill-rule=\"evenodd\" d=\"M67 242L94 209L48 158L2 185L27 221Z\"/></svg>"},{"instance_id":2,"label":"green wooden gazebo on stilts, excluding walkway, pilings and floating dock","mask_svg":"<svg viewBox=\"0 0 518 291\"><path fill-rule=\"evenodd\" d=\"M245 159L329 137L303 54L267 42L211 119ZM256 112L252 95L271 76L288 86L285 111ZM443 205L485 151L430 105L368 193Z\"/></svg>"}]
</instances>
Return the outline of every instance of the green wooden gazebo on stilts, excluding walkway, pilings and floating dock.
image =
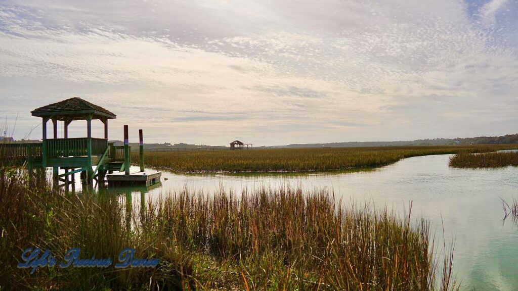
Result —
<instances>
[{"instance_id":1,"label":"green wooden gazebo on stilts, excluding walkway, pilings and floating dock","mask_svg":"<svg viewBox=\"0 0 518 291\"><path fill-rule=\"evenodd\" d=\"M68 182L68 175L77 172L81 172L87 181L94 179L98 171L97 175L104 176L107 167L103 165L110 160L107 156L108 119L116 118L115 114L78 97L37 108L31 113L43 119L41 162L42 166L53 168L55 181L64 176ZM53 125L52 139L47 138L49 120ZM68 138L68 125L79 120L87 121L87 137ZM104 124L104 138L92 138L92 120ZM58 121L64 122L64 138L57 138ZM95 171L92 166L97 166ZM64 174L58 174L60 167L65 170Z\"/></svg>"}]
</instances>

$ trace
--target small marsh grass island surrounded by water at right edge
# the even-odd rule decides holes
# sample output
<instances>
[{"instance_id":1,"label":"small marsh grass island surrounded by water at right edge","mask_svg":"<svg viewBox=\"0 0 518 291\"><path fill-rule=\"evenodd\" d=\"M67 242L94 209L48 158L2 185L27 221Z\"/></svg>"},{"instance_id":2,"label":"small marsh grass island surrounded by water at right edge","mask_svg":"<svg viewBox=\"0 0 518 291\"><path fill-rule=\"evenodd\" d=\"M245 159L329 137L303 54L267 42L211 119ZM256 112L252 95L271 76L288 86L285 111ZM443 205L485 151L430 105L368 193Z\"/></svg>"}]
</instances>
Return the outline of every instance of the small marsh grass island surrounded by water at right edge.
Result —
<instances>
[{"instance_id":1,"label":"small marsh grass island surrounded by water at right edge","mask_svg":"<svg viewBox=\"0 0 518 291\"><path fill-rule=\"evenodd\" d=\"M501 168L518 166L518 152L457 153L450 158L455 168Z\"/></svg>"}]
</instances>

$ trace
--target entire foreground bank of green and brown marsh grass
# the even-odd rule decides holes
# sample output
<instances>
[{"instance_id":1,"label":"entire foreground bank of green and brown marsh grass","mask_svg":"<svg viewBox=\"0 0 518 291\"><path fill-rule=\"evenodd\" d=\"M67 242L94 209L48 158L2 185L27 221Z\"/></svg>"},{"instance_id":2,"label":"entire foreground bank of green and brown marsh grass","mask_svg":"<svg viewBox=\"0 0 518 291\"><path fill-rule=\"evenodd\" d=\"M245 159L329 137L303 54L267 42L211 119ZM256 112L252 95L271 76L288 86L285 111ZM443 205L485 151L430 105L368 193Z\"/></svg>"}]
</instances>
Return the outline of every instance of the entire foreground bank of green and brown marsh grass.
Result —
<instances>
[{"instance_id":1,"label":"entire foreground bank of green and brown marsh grass","mask_svg":"<svg viewBox=\"0 0 518 291\"><path fill-rule=\"evenodd\" d=\"M430 225L346 206L288 186L200 195L184 190L132 208L131 195L66 193L0 159L0 289L452 290L453 250ZM127 247L154 269L18 269L25 248L112 258Z\"/></svg>"}]
</instances>

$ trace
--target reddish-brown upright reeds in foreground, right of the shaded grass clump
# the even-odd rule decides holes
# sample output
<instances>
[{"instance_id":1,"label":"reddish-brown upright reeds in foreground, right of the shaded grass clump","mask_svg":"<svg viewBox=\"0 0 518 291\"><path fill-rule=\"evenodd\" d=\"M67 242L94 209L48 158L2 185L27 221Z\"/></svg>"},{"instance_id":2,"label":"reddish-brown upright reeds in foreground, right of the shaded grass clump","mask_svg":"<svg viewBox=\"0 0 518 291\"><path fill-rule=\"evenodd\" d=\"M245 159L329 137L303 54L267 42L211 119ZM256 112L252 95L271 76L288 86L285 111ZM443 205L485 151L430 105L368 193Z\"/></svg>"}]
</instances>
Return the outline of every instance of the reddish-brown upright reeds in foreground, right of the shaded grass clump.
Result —
<instances>
[{"instance_id":1,"label":"reddish-brown upright reeds in foreground, right of the shaded grass clump","mask_svg":"<svg viewBox=\"0 0 518 291\"><path fill-rule=\"evenodd\" d=\"M150 203L148 214L154 224L146 231L226 262L227 284L240 280L244 289L456 287L449 255L437 274L428 222L414 224L386 209L344 207L324 191L262 188L210 197L184 191ZM221 266L210 269L218 273Z\"/></svg>"}]
</instances>

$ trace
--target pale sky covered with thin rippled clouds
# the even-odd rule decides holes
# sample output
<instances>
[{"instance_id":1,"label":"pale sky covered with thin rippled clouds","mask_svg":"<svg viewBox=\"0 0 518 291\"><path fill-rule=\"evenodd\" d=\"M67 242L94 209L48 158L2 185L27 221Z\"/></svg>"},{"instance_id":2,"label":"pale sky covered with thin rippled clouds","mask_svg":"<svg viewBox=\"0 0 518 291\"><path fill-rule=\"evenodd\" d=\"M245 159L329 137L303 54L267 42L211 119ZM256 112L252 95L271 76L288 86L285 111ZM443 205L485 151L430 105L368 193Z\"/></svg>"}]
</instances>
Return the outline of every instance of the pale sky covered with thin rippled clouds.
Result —
<instances>
[{"instance_id":1,"label":"pale sky covered with thin rippled clouds","mask_svg":"<svg viewBox=\"0 0 518 291\"><path fill-rule=\"evenodd\" d=\"M0 0L0 126L40 139L70 97L130 141L515 134L518 0Z\"/></svg>"}]
</instances>

